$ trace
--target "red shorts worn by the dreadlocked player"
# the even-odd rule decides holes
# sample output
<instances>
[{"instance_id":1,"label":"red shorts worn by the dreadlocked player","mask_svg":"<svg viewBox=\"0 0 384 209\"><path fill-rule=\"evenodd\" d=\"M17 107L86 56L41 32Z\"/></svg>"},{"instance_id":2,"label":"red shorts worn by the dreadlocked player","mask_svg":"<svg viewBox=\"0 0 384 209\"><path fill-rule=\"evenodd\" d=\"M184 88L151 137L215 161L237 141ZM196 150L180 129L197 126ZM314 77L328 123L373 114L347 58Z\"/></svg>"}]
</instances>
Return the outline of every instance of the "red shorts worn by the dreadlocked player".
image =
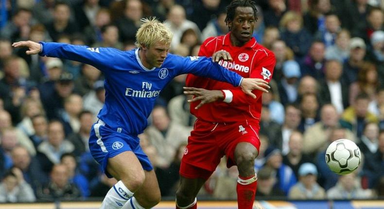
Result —
<instances>
[{"instance_id":1,"label":"red shorts worn by the dreadlocked player","mask_svg":"<svg viewBox=\"0 0 384 209\"><path fill-rule=\"evenodd\" d=\"M259 124L197 120L181 159L180 174L186 178L208 179L224 156L227 156L228 168L236 165L234 152L240 142L251 143L259 151Z\"/></svg>"}]
</instances>

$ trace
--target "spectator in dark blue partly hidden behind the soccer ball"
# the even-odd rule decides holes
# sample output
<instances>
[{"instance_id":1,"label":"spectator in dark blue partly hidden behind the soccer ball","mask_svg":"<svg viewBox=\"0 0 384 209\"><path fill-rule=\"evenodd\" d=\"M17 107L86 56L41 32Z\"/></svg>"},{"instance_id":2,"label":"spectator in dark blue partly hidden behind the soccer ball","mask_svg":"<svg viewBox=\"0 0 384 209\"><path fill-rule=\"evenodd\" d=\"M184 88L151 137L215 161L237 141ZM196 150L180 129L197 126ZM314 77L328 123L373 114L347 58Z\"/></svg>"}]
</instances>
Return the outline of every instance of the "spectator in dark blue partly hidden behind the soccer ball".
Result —
<instances>
[{"instance_id":1,"label":"spectator in dark blue partly hidden behind the soccer ball","mask_svg":"<svg viewBox=\"0 0 384 209\"><path fill-rule=\"evenodd\" d=\"M326 146L328 147L329 144L331 144L333 141L337 139L352 139L353 137L352 133L345 128L341 127L334 127L330 129L329 137L327 138ZM354 139L354 138L353 138ZM318 175L318 182L320 185L325 189L328 190L334 185L336 185L337 179L339 178L339 174L334 173L330 170L330 168L327 165L327 162L325 161L325 148L315 157L316 166L319 171Z\"/></svg>"}]
</instances>

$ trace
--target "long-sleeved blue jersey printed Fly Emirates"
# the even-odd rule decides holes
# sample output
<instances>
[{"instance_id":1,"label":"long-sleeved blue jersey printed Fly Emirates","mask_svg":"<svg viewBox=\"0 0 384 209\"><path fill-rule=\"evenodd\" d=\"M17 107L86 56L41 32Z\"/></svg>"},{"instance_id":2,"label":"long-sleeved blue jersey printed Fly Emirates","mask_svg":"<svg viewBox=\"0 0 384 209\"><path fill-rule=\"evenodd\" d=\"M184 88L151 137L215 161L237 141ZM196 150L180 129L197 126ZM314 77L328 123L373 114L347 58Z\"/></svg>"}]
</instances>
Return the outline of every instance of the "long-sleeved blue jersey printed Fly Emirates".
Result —
<instances>
[{"instance_id":1,"label":"long-sleeved blue jersey printed Fly Emirates","mask_svg":"<svg viewBox=\"0 0 384 209\"><path fill-rule=\"evenodd\" d=\"M145 68L139 49L89 48L62 43L42 44L40 55L86 63L105 75L105 104L98 118L114 130L137 135L147 126L156 98L177 75L192 73L239 86L242 77L213 63L207 57L168 54L160 68Z\"/></svg>"}]
</instances>

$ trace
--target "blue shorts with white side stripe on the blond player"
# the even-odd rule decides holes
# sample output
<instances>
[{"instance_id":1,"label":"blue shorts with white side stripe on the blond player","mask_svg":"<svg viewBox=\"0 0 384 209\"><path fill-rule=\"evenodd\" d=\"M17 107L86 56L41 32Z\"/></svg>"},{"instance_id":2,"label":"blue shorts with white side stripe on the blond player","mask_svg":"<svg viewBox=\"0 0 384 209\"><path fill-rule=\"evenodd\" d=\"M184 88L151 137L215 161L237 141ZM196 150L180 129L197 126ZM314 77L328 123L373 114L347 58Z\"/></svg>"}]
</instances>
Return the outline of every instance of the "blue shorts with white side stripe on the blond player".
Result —
<instances>
[{"instance_id":1,"label":"blue shorts with white side stripe on the blond player","mask_svg":"<svg viewBox=\"0 0 384 209\"><path fill-rule=\"evenodd\" d=\"M92 157L102 166L103 172L109 178L112 178L112 175L106 171L108 158L115 157L126 151L135 153L144 170L153 170L148 156L140 147L139 137L112 130L106 127L105 122L101 120L92 125L88 143Z\"/></svg>"}]
</instances>

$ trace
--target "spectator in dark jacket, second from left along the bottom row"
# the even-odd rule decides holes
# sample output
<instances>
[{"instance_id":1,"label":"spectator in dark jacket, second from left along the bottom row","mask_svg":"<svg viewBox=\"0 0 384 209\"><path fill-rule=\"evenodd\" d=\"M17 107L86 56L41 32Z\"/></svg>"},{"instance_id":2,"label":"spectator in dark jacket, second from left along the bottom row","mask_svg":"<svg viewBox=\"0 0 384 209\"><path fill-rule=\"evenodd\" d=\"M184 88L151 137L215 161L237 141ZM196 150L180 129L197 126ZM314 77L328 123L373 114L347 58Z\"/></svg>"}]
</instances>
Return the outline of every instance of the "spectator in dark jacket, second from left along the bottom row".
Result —
<instances>
[{"instance_id":1,"label":"spectator in dark jacket, second from left along the bottom row","mask_svg":"<svg viewBox=\"0 0 384 209\"><path fill-rule=\"evenodd\" d=\"M50 177L50 182L37 190L36 196L39 200L70 201L80 197L79 189L69 181L67 166L54 165Z\"/></svg>"}]
</instances>

